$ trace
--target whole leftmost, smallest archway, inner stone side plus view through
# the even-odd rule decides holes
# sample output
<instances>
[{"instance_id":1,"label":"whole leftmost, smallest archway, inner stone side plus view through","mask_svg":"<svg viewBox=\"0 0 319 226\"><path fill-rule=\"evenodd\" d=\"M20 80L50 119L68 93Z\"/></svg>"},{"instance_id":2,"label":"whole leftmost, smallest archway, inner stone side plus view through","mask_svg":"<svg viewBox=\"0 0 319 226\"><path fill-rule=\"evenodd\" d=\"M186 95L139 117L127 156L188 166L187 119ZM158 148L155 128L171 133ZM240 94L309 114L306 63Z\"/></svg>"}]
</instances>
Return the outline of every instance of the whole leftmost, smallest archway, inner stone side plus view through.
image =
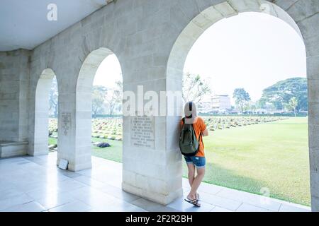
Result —
<instances>
[{"instance_id":1,"label":"whole leftmost, smallest archway, inner stone side plus view through","mask_svg":"<svg viewBox=\"0 0 319 226\"><path fill-rule=\"evenodd\" d=\"M49 148L50 150L57 148L57 99L55 73L52 69L45 69L40 75L35 90L35 135L33 151L29 153L30 155L45 155Z\"/></svg>"}]
</instances>

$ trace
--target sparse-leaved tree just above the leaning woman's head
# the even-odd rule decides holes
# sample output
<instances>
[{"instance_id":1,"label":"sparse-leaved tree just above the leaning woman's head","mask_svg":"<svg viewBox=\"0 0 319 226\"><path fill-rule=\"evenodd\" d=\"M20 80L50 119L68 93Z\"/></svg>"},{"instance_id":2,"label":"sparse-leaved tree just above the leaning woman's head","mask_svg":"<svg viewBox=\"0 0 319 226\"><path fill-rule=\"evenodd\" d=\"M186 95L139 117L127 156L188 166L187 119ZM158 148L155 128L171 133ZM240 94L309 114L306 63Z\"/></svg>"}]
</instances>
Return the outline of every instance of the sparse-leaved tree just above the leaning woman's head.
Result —
<instances>
[{"instance_id":1,"label":"sparse-leaved tree just above the leaning woman's head","mask_svg":"<svg viewBox=\"0 0 319 226\"><path fill-rule=\"evenodd\" d=\"M205 95L211 93L211 89L201 76L186 73L183 77L183 100L184 102L194 101L200 102Z\"/></svg>"}]
</instances>

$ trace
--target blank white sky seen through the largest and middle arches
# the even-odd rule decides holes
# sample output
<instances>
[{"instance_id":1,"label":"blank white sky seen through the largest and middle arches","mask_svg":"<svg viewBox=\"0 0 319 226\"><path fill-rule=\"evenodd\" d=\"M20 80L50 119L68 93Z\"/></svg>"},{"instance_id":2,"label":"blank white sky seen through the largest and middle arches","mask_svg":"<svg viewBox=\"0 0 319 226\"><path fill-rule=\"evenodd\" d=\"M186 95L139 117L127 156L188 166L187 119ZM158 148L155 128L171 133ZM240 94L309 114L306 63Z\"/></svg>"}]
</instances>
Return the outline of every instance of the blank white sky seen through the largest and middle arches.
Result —
<instances>
[{"instance_id":1,"label":"blank white sky seen through the largest and middle arches","mask_svg":"<svg viewBox=\"0 0 319 226\"><path fill-rule=\"evenodd\" d=\"M233 97L235 88L245 88L252 100L258 100L262 90L277 81L306 77L306 50L283 20L240 13L218 21L198 38L184 72L201 75L215 94ZM121 66L111 55L96 71L94 85L113 87L121 79Z\"/></svg>"}]
</instances>

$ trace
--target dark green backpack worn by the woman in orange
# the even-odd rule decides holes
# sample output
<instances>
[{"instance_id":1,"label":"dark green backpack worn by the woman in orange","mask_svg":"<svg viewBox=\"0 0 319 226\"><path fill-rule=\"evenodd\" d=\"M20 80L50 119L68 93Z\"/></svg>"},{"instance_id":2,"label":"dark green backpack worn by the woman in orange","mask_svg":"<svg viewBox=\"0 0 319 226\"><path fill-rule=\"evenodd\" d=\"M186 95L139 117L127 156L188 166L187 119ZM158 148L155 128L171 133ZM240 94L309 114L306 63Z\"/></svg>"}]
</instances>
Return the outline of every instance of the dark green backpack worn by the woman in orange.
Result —
<instances>
[{"instance_id":1,"label":"dark green backpack worn by the woman in orange","mask_svg":"<svg viewBox=\"0 0 319 226\"><path fill-rule=\"evenodd\" d=\"M185 124L185 118L182 120L184 124L179 134L179 149L182 155L194 156L198 153L201 135L197 141L193 124Z\"/></svg>"}]
</instances>

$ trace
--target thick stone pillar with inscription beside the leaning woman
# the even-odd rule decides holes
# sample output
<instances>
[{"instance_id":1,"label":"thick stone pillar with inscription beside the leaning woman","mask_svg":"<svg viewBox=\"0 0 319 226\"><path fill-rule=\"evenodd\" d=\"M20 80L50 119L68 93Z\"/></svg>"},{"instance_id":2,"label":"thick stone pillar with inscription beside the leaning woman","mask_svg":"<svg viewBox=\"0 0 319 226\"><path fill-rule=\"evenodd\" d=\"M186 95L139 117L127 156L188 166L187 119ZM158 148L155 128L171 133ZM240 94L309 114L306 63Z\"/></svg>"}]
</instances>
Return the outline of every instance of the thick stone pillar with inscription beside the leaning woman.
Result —
<instances>
[{"instance_id":1,"label":"thick stone pillar with inscription beside the leaning woman","mask_svg":"<svg viewBox=\"0 0 319 226\"><path fill-rule=\"evenodd\" d=\"M155 75L156 69L152 70ZM155 77L138 84L125 83L124 90L132 90L140 101L138 85L142 85L144 93L152 91L160 97L160 91L167 90L167 79ZM165 99L161 104L159 108L166 113ZM178 121L179 117L167 115L123 117L124 191L163 205L183 194L181 154L177 149Z\"/></svg>"}]
</instances>

